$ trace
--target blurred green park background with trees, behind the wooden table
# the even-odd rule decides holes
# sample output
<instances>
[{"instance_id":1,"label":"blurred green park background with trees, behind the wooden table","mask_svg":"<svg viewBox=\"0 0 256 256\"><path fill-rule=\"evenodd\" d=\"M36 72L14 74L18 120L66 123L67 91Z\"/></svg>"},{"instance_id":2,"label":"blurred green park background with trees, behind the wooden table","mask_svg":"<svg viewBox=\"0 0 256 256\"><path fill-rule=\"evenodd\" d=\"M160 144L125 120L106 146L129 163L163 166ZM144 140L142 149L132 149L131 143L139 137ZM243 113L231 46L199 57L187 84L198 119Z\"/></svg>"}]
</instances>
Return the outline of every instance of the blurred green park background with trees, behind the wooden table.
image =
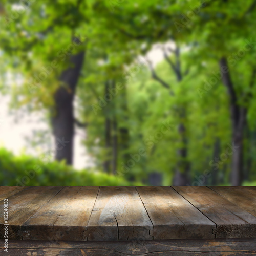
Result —
<instances>
[{"instance_id":1,"label":"blurred green park background with trees, behind the wooden table","mask_svg":"<svg viewBox=\"0 0 256 256\"><path fill-rule=\"evenodd\" d=\"M256 1L3 0L0 185L256 185Z\"/></svg>"}]
</instances>

